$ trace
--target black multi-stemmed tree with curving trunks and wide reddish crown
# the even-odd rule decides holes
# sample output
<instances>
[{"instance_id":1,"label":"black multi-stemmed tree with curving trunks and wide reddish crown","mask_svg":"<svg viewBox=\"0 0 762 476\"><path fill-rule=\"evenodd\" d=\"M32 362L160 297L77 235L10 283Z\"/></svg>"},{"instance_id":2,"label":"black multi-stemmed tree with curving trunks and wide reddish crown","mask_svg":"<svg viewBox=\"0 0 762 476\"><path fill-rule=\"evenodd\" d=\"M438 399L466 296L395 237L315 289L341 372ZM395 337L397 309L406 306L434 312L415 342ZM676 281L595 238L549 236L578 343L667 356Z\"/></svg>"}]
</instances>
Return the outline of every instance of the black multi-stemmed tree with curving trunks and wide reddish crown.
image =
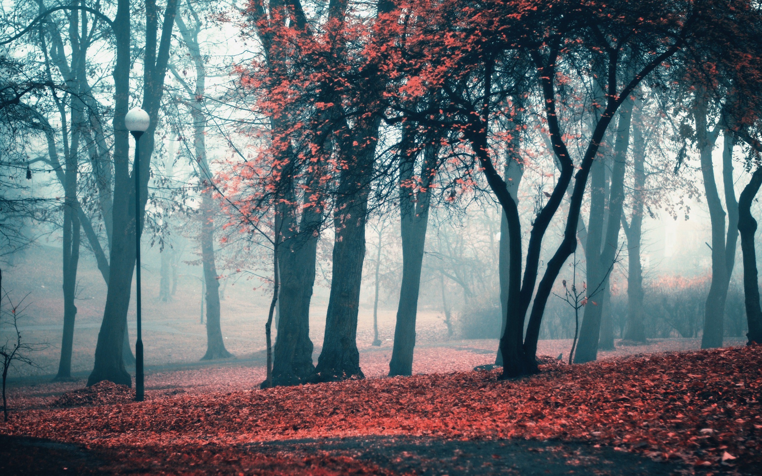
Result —
<instances>
[{"instance_id":1,"label":"black multi-stemmed tree with curving trunks and wide reddish crown","mask_svg":"<svg viewBox=\"0 0 762 476\"><path fill-rule=\"evenodd\" d=\"M511 235L508 292L511 315L507 316L506 332L501 338L501 353L503 375L507 378L536 371L534 355L544 306L560 267L576 248L575 235L586 182L614 113L646 75L680 49L690 35L690 24L696 21L696 14L689 4L671 5L673 11L665 26L661 7L648 2L606 5L596 11L576 2L490 6L478 11L463 8L457 2L422 6L428 9L421 14L421 18L427 18L425 24L390 25L390 37L405 37L404 54L387 47L389 53L384 57L395 64L395 71L400 72L399 78L402 78L394 83L398 89L389 91L389 97L395 100L390 100L390 106L399 111L401 117L458 130L469 143L491 190L506 212ZM608 15L607 8L616 9L618 13ZM511 14L501 13L506 11ZM559 14L560 11L564 14ZM404 35L399 33L400 29L407 29ZM443 35L443 31L452 34ZM446 43L437 43L440 37L447 38ZM532 302L542 238L575 170L558 117L557 94L567 91L564 85L568 81L567 76L559 75L559 63L568 64L570 71L581 71L589 68L591 62L600 63L600 70L605 72L606 104L595 111L598 120L585 140L585 152L577 166L565 238L539 283L524 339L523 323ZM536 76L529 78L539 90L544 119L562 172L553 193L533 221L522 283L523 252L517 206L492 163L488 136L493 116L499 116L501 111L495 105L501 104L502 97L511 91L523 91L523 81L532 69ZM584 75L589 73L584 69ZM416 113L406 106L406 99L433 90L446 95L440 104L447 106L437 111L443 116L442 120L438 120L440 116L433 110ZM464 94L465 91L469 94ZM575 96L568 96L568 100L578 101ZM435 119L431 119L432 114Z\"/></svg>"}]
</instances>

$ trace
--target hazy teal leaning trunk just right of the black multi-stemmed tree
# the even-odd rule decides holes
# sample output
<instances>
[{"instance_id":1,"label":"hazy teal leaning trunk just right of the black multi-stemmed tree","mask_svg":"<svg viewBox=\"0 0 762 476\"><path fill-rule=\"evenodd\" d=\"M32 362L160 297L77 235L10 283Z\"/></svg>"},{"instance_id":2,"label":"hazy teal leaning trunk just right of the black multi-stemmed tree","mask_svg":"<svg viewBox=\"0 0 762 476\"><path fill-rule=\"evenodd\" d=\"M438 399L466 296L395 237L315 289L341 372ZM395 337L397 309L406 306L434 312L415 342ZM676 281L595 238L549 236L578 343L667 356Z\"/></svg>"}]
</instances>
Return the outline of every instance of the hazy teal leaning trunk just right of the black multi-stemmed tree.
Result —
<instances>
[{"instance_id":1,"label":"hazy teal leaning trunk just right of the black multi-stemmed tree","mask_svg":"<svg viewBox=\"0 0 762 476\"><path fill-rule=\"evenodd\" d=\"M595 260L594 257L597 257L597 260L595 260L597 263L594 267L594 273L590 272L590 267L588 266L588 304L584 307L584 316L579 332L579 343L574 357L575 363L590 362L597 358L601 337L601 317L610 286L610 270L613 267L613 262L619 250L619 233L624 203L624 175L626 171L627 149L629 147L629 129L632 122L632 107L632 97L628 97L623 101L620 107L619 124L616 130L616 143L614 145L614 164L611 173L608 221L603 243L600 242L600 238L597 238L597 232L593 230L594 222L595 229L597 229L597 222L599 220L600 225L603 225L604 210L600 209L600 217L594 217L591 201L591 217L588 222L591 232L588 235L588 249L585 251L585 256L588 259L588 264ZM597 165L593 166L593 168L596 167ZM600 167L603 168L603 164ZM598 174L600 174L600 171ZM595 177L592 180L595 183ZM591 189L591 193L594 192L595 190ZM602 203L599 203L599 205L602 205ZM601 283L602 286L599 288L598 286ZM604 291L598 296L592 296L591 293L595 292L595 289L604 289ZM610 326L610 332L608 333L609 341L605 342L605 344L606 347L611 349L613 348L613 323L610 322L610 319L607 325Z\"/></svg>"}]
</instances>

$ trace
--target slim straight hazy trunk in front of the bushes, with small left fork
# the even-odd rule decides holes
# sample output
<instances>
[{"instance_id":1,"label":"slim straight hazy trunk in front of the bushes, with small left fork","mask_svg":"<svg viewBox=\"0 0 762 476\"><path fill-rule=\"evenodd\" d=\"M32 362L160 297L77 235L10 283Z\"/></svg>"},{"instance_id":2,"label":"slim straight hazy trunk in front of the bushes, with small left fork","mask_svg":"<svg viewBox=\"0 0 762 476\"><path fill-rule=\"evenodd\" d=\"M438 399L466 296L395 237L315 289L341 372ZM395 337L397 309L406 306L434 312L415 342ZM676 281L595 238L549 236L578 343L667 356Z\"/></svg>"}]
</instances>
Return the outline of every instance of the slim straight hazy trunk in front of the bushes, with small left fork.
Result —
<instances>
[{"instance_id":1,"label":"slim straight hazy trunk in front of the bushes, with small left fork","mask_svg":"<svg viewBox=\"0 0 762 476\"><path fill-rule=\"evenodd\" d=\"M636 109L632 120L632 214L629 225L622 219L627 237L627 321L624 340L646 342L643 324L643 268L640 262L643 209L645 208L645 137L642 109Z\"/></svg>"}]
</instances>

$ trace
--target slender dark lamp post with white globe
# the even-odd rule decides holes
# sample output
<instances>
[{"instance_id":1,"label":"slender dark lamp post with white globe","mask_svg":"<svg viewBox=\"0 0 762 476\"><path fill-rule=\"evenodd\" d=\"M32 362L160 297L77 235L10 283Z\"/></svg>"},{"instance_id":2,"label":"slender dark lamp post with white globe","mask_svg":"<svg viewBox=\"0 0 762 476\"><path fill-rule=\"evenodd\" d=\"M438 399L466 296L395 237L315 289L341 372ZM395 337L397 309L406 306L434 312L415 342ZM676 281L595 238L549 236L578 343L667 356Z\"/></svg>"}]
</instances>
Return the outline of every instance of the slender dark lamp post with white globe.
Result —
<instances>
[{"instance_id":1,"label":"slender dark lamp post with white globe","mask_svg":"<svg viewBox=\"0 0 762 476\"><path fill-rule=\"evenodd\" d=\"M135 401L143 401L142 327L140 322L140 136L148 130L151 119L139 107L130 109L124 117L124 126L135 138L135 279L138 339L135 343Z\"/></svg>"}]
</instances>

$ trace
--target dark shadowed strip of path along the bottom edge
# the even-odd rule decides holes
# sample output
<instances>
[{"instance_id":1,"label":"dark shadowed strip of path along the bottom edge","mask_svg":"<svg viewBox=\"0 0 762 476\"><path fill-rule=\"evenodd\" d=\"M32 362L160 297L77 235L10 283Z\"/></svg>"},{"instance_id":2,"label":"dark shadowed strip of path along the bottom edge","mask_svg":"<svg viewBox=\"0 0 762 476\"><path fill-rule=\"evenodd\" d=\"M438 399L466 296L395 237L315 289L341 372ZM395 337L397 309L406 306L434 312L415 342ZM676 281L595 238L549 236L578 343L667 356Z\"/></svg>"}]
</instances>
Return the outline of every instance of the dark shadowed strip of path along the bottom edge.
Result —
<instances>
[{"instance_id":1,"label":"dark shadowed strip of path along the bottom edge","mask_svg":"<svg viewBox=\"0 0 762 476\"><path fill-rule=\"evenodd\" d=\"M668 475L686 469L642 455L558 441L443 441L404 436L304 439L237 447L85 449L0 436L0 474L537 474Z\"/></svg>"}]
</instances>

